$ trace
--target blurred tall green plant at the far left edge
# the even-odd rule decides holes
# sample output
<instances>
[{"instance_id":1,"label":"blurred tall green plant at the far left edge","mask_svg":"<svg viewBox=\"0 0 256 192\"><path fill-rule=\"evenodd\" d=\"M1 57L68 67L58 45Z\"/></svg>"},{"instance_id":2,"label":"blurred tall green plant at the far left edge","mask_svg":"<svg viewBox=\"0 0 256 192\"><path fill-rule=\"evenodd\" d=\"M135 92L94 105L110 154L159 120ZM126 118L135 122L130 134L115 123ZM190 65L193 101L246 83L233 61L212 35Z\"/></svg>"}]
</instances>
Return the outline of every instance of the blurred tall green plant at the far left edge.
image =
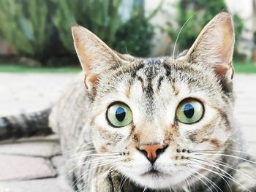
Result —
<instances>
[{"instance_id":1,"label":"blurred tall green plant at the far left edge","mask_svg":"<svg viewBox=\"0 0 256 192\"><path fill-rule=\"evenodd\" d=\"M47 15L46 1L1 0L0 35L17 53L42 58L50 39Z\"/></svg>"}]
</instances>

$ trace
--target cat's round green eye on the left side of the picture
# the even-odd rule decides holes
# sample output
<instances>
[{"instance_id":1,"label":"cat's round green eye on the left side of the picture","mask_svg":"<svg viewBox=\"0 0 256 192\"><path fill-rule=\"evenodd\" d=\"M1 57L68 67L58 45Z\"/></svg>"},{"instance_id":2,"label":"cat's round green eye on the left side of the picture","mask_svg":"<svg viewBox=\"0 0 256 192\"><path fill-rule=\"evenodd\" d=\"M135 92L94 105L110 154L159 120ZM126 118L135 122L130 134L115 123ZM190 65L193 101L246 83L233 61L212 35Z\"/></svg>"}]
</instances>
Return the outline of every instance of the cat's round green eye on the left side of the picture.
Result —
<instances>
[{"instance_id":1,"label":"cat's round green eye on the left side of the picture","mask_svg":"<svg viewBox=\"0 0 256 192\"><path fill-rule=\"evenodd\" d=\"M124 127L132 123L132 111L127 104L114 103L107 111L108 122L114 127Z\"/></svg>"}]
</instances>

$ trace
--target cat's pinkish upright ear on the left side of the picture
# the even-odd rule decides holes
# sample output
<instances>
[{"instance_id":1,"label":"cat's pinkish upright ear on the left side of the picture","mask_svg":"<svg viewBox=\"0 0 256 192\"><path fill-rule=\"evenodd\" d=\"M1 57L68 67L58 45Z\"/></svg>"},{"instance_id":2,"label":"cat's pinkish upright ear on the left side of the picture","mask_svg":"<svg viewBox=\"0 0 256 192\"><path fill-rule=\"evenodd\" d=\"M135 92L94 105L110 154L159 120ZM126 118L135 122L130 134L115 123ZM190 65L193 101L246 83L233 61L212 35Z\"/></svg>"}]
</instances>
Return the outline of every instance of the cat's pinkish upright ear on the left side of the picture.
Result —
<instances>
[{"instance_id":1,"label":"cat's pinkish upright ear on the left side of the picture","mask_svg":"<svg viewBox=\"0 0 256 192\"><path fill-rule=\"evenodd\" d=\"M72 37L80 64L85 72L85 85L89 91L97 84L99 74L124 63L117 53L86 28L72 26Z\"/></svg>"}]
</instances>

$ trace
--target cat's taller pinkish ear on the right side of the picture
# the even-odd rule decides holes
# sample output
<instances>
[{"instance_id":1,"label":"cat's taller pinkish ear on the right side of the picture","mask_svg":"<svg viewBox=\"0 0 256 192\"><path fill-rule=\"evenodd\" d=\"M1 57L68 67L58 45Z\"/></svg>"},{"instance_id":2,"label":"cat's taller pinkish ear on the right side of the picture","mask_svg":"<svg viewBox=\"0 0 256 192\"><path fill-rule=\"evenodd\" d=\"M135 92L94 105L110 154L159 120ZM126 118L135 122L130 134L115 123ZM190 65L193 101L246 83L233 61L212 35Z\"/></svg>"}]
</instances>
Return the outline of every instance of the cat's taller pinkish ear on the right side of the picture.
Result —
<instances>
[{"instance_id":1,"label":"cat's taller pinkish ear on the right side of the picture","mask_svg":"<svg viewBox=\"0 0 256 192\"><path fill-rule=\"evenodd\" d=\"M220 12L200 32L187 53L187 60L207 64L214 68L217 76L232 80L234 42L232 15Z\"/></svg>"}]
</instances>

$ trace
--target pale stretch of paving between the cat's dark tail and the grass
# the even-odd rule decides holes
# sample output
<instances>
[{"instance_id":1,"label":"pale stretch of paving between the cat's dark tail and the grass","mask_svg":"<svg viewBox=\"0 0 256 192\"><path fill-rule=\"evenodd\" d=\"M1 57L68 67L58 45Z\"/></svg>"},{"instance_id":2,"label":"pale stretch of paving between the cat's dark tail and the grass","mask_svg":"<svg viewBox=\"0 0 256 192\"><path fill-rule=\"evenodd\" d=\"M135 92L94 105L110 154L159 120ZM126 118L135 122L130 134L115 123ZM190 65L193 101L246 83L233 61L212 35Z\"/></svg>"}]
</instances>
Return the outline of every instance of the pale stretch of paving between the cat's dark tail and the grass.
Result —
<instances>
[{"instance_id":1,"label":"pale stretch of paving between the cat's dark tail and the grass","mask_svg":"<svg viewBox=\"0 0 256 192\"><path fill-rule=\"evenodd\" d=\"M43 110L77 74L0 73L0 116Z\"/></svg>"}]
</instances>

